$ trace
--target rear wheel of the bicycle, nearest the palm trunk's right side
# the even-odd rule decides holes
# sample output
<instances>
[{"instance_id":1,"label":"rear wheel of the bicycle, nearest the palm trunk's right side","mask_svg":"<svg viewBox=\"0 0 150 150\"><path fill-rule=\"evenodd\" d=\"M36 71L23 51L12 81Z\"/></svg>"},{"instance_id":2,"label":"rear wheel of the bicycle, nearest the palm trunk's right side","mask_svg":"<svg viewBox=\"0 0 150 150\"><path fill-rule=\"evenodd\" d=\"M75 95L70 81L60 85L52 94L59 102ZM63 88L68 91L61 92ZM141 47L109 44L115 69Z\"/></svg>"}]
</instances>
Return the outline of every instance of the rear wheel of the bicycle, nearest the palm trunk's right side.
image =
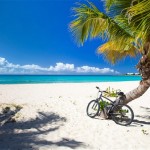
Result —
<instances>
[{"instance_id":1,"label":"rear wheel of the bicycle, nearest the palm trunk's right side","mask_svg":"<svg viewBox=\"0 0 150 150\"><path fill-rule=\"evenodd\" d=\"M130 125L134 119L134 113L131 107L124 104L114 106L111 116L115 123L123 126Z\"/></svg>"}]
</instances>

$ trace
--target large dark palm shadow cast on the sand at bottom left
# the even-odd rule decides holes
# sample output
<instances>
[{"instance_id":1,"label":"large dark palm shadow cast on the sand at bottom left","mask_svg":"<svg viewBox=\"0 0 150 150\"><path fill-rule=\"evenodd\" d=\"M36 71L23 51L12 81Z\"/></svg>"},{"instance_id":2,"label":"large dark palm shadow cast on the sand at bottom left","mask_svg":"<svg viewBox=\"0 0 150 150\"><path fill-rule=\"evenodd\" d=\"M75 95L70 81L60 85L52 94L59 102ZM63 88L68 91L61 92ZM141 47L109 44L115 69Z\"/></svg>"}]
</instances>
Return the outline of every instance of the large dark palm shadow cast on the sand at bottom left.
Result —
<instances>
[{"instance_id":1,"label":"large dark palm shadow cast on the sand at bottom left","mask_svg":"<svg viewBox=\"0 0 150 150\"><path fill-rule=\"evenodd\" d=\"M85 146L84 143L74 139L61 138L59 141L51 141L42 138L59 130L67 119L55 113L38 112L38 116L34 120L7 122L0 126L0 148L39 149L39 147L46 146L50 149L53 146L63 146L75 149Z\"/></svg>"}]
</instances>

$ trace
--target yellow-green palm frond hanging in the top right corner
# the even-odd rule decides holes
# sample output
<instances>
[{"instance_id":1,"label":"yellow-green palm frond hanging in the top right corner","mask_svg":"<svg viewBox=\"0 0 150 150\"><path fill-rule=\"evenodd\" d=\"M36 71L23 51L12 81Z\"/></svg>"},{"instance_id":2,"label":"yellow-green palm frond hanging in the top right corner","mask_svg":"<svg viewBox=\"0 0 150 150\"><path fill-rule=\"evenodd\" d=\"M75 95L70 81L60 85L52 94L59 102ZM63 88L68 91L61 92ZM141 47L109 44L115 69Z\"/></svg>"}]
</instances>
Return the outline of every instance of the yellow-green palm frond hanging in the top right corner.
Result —
<instances>
[{"instance_id":1,"label":"yellow-green palm frond hanging in the top right corner","mask_svg":"<svg viewBox=\"0 0 150 150\"><path fill-rule=\"evenodd\" d=\"M127 16L131 26L137 31L136 39L146 42L150 36L150 0L142 0L130 7Z\"/></svg>"}]
</instances>

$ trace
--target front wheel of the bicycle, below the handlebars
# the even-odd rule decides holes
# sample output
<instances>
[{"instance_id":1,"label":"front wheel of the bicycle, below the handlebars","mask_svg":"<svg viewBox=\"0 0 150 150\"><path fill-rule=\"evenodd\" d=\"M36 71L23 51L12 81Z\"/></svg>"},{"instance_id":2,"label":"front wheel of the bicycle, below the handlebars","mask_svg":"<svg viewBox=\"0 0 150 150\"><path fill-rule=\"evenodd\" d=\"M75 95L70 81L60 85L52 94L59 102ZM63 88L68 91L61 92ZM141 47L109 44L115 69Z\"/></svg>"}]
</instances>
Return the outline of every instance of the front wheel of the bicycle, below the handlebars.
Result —
<instances>
[{"instance_id":1,"label":"front wheel of the bicycle, below the handlebars","mask_svg":"<svg viewBox=\"0 0 150 150\"><path fill-rule=\"evenodd\" d=\"M89 117L94 118L95 116L98 115L99 110L100 110L100 105L98 101L92 100L89 102L87 106L86 113Z\"/></svg>"}]
</instances>

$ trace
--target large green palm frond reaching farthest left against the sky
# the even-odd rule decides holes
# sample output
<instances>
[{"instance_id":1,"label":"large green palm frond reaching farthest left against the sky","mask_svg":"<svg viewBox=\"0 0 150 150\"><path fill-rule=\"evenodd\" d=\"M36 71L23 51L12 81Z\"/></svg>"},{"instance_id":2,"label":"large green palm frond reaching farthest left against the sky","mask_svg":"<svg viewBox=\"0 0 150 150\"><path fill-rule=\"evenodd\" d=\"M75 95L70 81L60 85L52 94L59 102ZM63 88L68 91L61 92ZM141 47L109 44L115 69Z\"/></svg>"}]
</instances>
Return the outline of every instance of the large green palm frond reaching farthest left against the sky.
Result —
<instances>
[{"instance_id":1,"label":"large green palm frond reaching farthest left against the sky","mask_svg":"<svg viewBox=\"0 0 150 150\"><path fill-rule=\"evenodd\" d=\"M78 43L83 44L88 37L102 37L110 40L132 37L130 32L101 12L93 3L89 3L89 6L79 4L73 10L76 19L70 23L70 29Z\"/></svg>"}]
</instances>

